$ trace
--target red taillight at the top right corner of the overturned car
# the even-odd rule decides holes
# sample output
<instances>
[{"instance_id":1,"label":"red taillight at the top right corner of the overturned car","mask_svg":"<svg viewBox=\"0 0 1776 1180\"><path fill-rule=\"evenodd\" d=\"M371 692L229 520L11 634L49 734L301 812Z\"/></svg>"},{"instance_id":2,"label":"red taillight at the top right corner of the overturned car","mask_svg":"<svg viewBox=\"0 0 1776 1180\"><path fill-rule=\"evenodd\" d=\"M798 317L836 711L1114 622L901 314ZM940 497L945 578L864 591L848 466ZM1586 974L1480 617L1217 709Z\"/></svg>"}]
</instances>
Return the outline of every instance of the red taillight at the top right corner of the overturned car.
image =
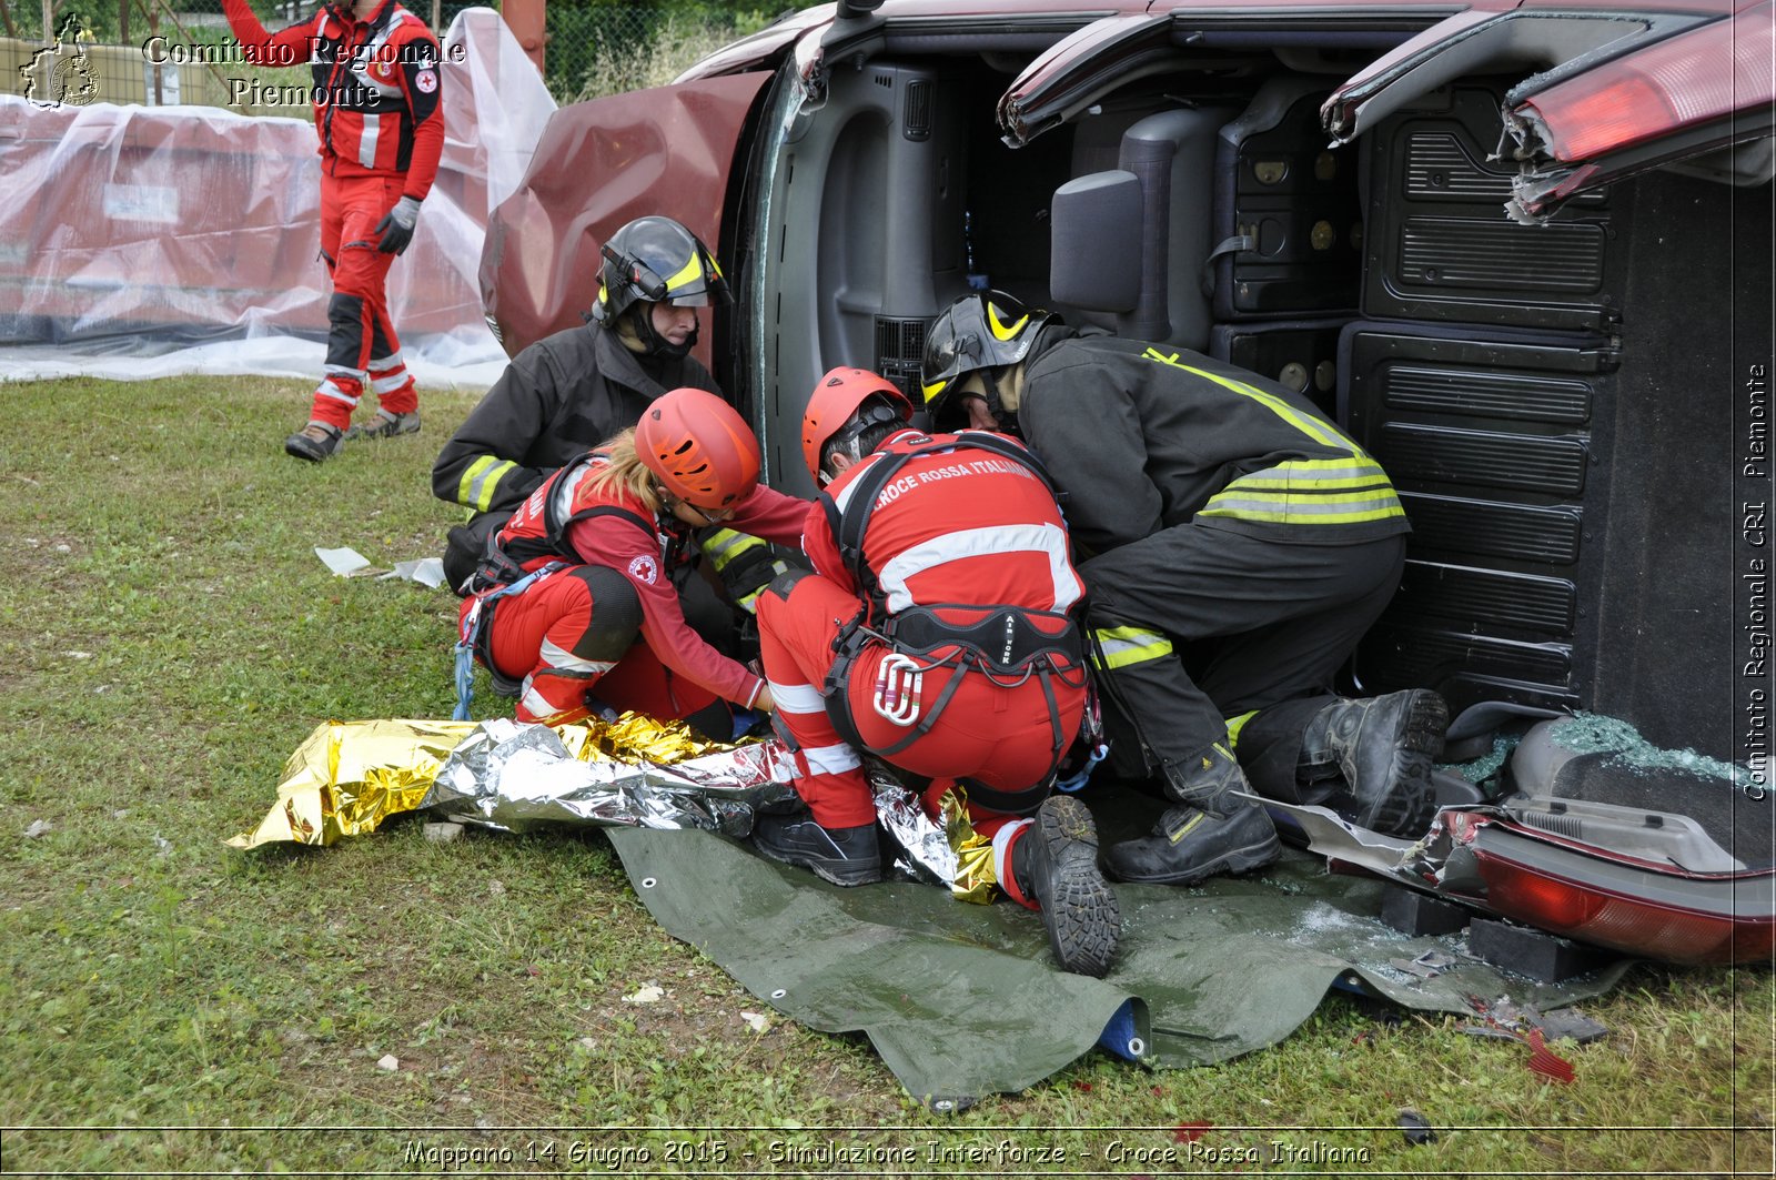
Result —
<instances>
[{"instance_id":1,"label":"red taillight at the top right corner of the overturned car","mask_svg":"<svg viewBox=\"0 0 1776 1180\"><path fill-rule=\"evenodd\" d=\"M1520 110L1536 112L1556 160L1575 163L1767 105L1776 98L1771 32L1772 7L1760 4L1588 69L1524 101Z\"/></svg>"}]
</instances>

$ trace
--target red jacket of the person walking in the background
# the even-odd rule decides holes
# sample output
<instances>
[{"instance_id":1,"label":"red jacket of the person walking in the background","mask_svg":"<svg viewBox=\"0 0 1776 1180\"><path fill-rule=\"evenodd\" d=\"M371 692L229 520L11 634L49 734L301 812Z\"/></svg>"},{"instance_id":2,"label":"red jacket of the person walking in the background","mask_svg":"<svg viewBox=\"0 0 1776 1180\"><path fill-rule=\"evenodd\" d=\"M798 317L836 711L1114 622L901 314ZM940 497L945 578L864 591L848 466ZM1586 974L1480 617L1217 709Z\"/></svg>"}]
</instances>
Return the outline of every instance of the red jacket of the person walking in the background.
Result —
<instances>
[{"instance_id":1,"label":"red jacket of the person walking in the background","mask_svg":"<svg viewBox=\"0 0 1776 1180\"><path fill-rule=\"evenodd\" d=\"M439 41L394 0L364 20L350 0L266 32L247 0L222 0L249 62L313 75L314 132L330 176L405 176L401 195L423 201L444 151Z\"/></svg>"}]
</instances>

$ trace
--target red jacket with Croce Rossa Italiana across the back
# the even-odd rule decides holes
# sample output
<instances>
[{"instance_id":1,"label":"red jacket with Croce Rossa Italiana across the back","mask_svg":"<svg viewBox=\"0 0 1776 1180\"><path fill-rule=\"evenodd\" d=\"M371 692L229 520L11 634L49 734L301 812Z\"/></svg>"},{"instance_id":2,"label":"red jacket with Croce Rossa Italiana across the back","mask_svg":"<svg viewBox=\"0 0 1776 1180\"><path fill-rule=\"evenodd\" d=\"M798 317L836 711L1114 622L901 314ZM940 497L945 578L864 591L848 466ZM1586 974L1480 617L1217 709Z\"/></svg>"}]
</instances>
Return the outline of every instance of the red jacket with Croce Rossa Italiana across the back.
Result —
<instances>
[{"instance_id":1,"label":"red jacket with Croce Rossa Italiana across the back","mask_svg":"<svg viewBox=\"0 0 1776 1180\"><path fill-rule=\"evenodd\" d=\"M1066 611L1085 586L1073 569L1067 524L1053 494L1028 467L970 448L970 434L900 430L826 489L844 512L858 476L883 453L927 441L952 444L906 460L876 496L863 562L876 574L888 613L940 602ZM861 595L821 505L808 514L803 549L821 574Z\"/></svg>"}]
</instances>

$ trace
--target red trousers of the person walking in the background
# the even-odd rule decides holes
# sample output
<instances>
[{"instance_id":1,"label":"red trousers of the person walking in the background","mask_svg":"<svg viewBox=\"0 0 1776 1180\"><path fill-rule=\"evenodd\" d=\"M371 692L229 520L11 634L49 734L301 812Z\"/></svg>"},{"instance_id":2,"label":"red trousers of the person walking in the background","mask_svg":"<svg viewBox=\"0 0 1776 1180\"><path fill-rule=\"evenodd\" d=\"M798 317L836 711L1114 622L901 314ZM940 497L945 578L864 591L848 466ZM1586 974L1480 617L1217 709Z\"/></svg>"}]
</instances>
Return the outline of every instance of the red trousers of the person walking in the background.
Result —
<instances>
[{"instance_id":1,"label":"red trousers of the person walking in the background","mask_svg":"<svg viewBox=\"0 0 1776 1180\"><path fill-rule=\"evenodd\" d=\"M400 176L321 174L321 259L332 277L327 300L327 375L309 416L345 430L368 386L382 409L410 414L419 391L401 359L389 318L389 267L377 249L377 222L401 199Z\"/></svg>"}]
</instances>

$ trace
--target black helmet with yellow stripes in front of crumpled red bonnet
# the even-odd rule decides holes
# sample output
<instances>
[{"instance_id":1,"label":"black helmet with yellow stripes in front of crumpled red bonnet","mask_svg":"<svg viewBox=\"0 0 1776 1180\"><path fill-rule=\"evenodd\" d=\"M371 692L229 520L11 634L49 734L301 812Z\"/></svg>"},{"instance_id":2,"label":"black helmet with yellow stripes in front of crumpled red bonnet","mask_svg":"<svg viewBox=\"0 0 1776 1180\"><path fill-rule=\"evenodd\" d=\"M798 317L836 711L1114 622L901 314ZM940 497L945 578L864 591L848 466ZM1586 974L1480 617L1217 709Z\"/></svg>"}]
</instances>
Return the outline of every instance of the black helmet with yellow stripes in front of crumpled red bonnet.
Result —
<instances>
[{"instance_id":1,"label":"black helmet with yellow stripes in front of crumpled red bonnet","mask_svg":"<svg viewBox=\"0 0 1776 1180\"><path fill-rule=\"evenodd\" d=\"M606 327L616 327L618 316L636 304L721 307L733 302L716 256L670 217L638 217L613 233L600 252L604 265L591 318ZM691 341L678 348L666 345L648 315L636 315L634 323L648 352L689 352Z\"/></svg>"}]
</instances>

